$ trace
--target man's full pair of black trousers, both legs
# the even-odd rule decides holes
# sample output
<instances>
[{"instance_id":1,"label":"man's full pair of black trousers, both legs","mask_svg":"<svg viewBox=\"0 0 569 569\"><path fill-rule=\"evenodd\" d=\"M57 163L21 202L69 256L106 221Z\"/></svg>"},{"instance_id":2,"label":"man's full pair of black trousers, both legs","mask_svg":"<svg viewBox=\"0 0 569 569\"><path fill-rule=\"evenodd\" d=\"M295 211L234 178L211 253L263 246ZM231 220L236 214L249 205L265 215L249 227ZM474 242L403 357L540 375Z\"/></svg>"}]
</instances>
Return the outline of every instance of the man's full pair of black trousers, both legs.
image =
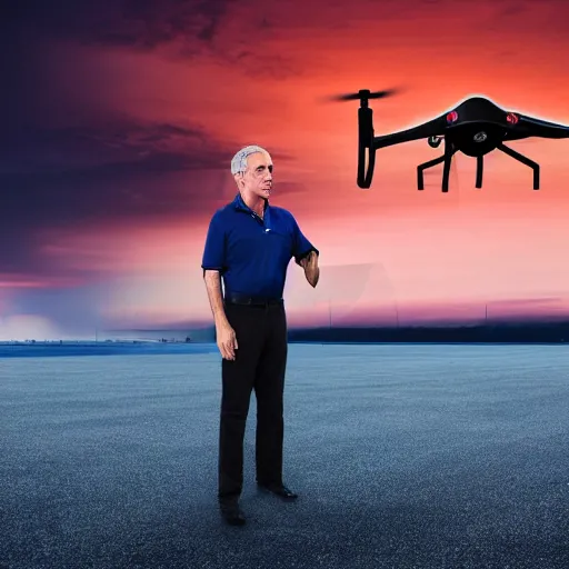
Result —
<instances>
[{"instance_id":1,"label":"man's full pair of black trousers, both legs","mask_svg":"<svg viewBox=\"0 0 569 569\"><path fill-rule=\"evenodd\" d=\"M243 438L251 391L257 398L257 482L282 483L283 391L287 318L283 305L226 305L239 348L222 360L219 432L220 502L236 500L243 486Z\"/></svg>"}]
</instances>

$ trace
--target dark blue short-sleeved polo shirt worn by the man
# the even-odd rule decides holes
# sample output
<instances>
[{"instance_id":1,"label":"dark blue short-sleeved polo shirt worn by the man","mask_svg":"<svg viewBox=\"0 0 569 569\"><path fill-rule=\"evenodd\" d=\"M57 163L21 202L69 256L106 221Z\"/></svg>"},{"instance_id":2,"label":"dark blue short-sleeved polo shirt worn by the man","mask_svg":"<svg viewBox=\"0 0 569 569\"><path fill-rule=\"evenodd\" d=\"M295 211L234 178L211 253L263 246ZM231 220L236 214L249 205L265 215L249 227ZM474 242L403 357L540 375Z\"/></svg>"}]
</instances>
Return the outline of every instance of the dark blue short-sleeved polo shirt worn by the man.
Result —
<instances>
[{"instance_id":1,"label":"dark blue short-sleeved polo shirt worn by the man","mask_svg":"<svg viewBox=\"0 0 569 569\"><path fill-rule=\"evenodd\" d=\"M220 271L226 295L282 298L290 260L310 251L292 213L267 201L261 219L238 193L213 213L201 267Z\"/></svg>"}]
</instances>

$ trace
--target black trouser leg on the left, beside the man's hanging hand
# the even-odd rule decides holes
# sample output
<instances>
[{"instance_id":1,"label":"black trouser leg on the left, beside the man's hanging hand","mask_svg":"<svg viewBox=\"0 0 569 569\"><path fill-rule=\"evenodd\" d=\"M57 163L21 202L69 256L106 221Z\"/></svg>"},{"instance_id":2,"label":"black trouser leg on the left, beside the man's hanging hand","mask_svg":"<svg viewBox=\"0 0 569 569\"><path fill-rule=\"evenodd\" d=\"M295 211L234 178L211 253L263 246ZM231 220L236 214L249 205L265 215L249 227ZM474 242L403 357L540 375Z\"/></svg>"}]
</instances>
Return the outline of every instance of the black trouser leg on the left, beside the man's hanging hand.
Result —
<instances>
[{"instance_id":1,"label":"black trouser leg on the left, beside the man's hanging hand","mask_svg":"<svg viewBox=\"0 0 569 569\"><path fill-rule=\"evenodd\" d=\"M220 502L237 500L243 486L243 438L254 385L254 373L262 348L262 322L248 307L226 307L239 348L236 359L222 360L222 395L219 431Z\"/></svg>"}]
</instances>

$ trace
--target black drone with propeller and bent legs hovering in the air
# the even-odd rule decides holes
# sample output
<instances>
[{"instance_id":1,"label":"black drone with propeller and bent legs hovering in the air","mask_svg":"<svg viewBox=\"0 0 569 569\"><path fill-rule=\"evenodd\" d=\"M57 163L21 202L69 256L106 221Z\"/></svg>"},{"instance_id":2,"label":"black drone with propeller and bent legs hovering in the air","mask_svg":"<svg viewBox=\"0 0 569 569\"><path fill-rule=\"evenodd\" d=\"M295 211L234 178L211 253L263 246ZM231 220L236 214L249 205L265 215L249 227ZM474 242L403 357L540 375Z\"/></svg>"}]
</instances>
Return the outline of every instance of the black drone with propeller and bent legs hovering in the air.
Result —
<instances>
[{"instance_id":1,"label":"black drone with propeller and bent legs hovering in the air","mask_svg":"<svg viewBox=\"0 0 569 569\"><path fill-rule=\"evenodd\" d=\"M482 187L485 156L492 150L501 150L511 158L533 170L533 189L539 190L539 164L507 147L503 142L530 137L562 139L569 138L569 127L556 124L518 112L506 111L485 97L470 97L452 110L423 124L375 136L373 111L370 99L381 99L393 94L395 90L371 92L361 89L357 93L335 97L335 100L358 100L358 176L357 183L362 189L371 187L376 150L380 148L411 142L427 138L431 148L438 148L445 141L445 152L439 158L417 167L417 186L425 189L423 171L443 163L442 191L449 191L449 177L452 157L457 152L477 159L476 187ZM366 151L368 157L366 160ZM367 168L366 168L367 162Z\"/></svg>"}]
</instances>

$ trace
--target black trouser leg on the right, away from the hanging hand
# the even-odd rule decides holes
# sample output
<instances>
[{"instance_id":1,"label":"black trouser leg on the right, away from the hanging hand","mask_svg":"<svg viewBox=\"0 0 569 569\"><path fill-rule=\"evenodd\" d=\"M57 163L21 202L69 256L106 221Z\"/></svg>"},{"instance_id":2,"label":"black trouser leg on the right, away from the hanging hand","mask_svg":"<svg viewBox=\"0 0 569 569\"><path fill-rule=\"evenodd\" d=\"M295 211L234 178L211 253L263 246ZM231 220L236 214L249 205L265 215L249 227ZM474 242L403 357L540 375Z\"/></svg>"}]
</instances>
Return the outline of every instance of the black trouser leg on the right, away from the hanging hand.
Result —
<instances>
[{"instance_id":1,"label":"black trouser leg on the right, away from the hanging hand","mask_svg":"<svg viewBox=\"0 0 569 569\"><path fill-rule=\"evenodd\" d=\"M262 485L282 483L283 391L287 352L284 308L270 307L267 313L267 341L260 356L254 380L257 481Z\"/></svg>"}]
</instances>

